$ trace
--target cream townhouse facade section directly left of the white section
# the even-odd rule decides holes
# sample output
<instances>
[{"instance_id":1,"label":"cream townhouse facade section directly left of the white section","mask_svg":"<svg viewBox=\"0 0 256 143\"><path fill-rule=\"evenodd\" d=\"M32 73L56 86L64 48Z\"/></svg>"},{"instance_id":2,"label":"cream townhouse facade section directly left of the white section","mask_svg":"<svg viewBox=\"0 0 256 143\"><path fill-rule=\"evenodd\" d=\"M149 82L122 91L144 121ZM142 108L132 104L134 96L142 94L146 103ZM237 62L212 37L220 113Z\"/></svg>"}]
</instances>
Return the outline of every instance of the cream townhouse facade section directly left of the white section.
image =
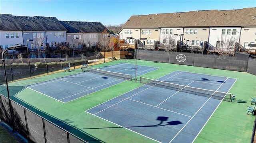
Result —
<instances>
[{"instance_id":1,"label":"cream townhouse facade section directly left of the white section","mask_svg":"<svg viewBox=\"0 0 256 143\"><path fill-rule=\"evenodd\" d=\"M188 29L188 34L186 34L186 29ZM190 34L190 29L193 29L193 34ZM195 29L197 29L197 34L195 34ZM209 30L209 27L186 27L184 28L183 43L186 44L186 42L189 41L189 46L199 46L200 41L208 41ZM194 45L192 45L192 40L194 40ZM196 45L196 41L199 41L199 45Z\"/></svg>"}]
</instances>

